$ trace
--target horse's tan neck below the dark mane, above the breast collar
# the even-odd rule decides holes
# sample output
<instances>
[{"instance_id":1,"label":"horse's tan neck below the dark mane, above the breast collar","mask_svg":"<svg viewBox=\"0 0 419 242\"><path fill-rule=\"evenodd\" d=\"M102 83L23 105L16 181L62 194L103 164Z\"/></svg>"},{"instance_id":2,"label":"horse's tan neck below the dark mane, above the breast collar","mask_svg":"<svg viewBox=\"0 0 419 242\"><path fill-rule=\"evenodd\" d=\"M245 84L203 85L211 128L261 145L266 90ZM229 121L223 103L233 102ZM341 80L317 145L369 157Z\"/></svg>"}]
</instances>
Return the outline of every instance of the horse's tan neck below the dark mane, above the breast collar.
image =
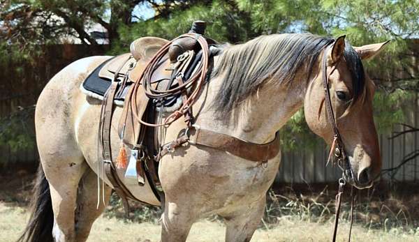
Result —
<instances>
[{"instance_id":1,"label":"horse's tan neck below the dark mane, above the breast collar","mask_svg":"<svg viewBox=\"0 0 419 242\"><path fill-rule=\"evenodd\" d=\"M302 106L306 91L304 82L291 86L267 84L256 95L249 96L235 107L229 117L220 119L212 103L221 81L219 78L211 80L200 96L198 105L200 103L204 107L197 124L201 128L259 144L274 138L275 133Z\"/></svg>"}]
</instances>

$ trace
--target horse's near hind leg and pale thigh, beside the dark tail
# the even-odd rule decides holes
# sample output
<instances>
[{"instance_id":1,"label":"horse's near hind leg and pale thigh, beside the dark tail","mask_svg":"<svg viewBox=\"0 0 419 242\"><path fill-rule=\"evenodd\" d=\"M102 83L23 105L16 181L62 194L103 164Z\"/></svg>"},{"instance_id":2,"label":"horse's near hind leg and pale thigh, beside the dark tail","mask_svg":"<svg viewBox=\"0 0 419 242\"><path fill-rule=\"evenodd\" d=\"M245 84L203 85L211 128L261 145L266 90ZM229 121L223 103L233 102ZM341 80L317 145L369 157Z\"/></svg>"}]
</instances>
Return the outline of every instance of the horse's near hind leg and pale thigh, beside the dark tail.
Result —
<instances>
[{"instance_id":1,"label":"horse's near hind leg and pale thigh, beside the dark tail","mask_svg":"<svg viewBox=\"0 0 419 242\"><path fill-rule=\"evenodd\" d=\"M50 185L54 212L52 236L55 241L73 242L78 186L88 165L71 128L69 101L64 100L66 95L59 95L64 87L54 87L57 84L54 78L41 93L36 106L36 143Z\"/></svg>"}]
</instances>

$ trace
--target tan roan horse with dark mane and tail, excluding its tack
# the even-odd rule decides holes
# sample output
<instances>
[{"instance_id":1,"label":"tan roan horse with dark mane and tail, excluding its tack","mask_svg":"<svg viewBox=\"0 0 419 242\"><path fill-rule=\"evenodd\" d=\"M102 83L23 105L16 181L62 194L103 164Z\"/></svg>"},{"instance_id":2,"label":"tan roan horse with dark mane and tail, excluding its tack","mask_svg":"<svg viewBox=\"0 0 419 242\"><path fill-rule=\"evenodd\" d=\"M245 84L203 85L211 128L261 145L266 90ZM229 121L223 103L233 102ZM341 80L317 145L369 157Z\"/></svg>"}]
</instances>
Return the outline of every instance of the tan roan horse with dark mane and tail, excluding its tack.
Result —
<instances>
[{"instance_id":1,"label":"tan roan horse with dark mane and tail, excluding its tack","mask_svg":"<svg viewBox=\"0 0 419 242\"><path fill-rule=\"evenodd\" d=\"M346 182L369 188L381 170L381 157L372 108L375 85L362 60L376 56L386 44L352 47L345 36L288 33L224 45L193 105L196 125L265 144L303 107L309 128L332 146L336 134L326 108L327 89L351 167ZM86 241L110 199L112 184L97 168L101 101L79 89L87 75L110 58L91 56L71 63L52 77L38 98L41 166L32 215L20 241ZM326 87L323 75L328 77ZM121 111L115 107L113 123ZM172 123L165 141L175 140L184 128L182 120ZM113 124L110 136L112 156L117 156L120 141ZM193 222L212 214L226 223L226 241L250 241L280 161L280 153L261 164L191 143L164 156L159 162L165 195L161 241L186 241ZM97 176L107 186L105 204L96 208Z\"/></svg>"}]
</instances>

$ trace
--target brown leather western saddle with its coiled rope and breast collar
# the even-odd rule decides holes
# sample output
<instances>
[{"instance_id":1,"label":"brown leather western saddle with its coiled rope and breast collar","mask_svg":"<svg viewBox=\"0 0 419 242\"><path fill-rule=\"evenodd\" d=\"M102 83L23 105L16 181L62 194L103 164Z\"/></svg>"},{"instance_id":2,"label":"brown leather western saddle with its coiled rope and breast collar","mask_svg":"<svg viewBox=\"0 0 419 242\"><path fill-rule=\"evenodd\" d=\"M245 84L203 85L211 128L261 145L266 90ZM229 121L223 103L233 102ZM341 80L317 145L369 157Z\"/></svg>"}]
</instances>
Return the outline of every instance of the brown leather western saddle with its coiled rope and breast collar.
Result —
<instances>
[{"instance_id":1,"label":"brown leather western saddle with its coiled rope and breast collar","mask_svg":"<svg viewBox=\"0 0 419 242\"><path fill-rule=\"evenodd\" d=\"M205 27L205 22L196 21L189 33L172 41L156 37L135 40L130 47L131 53L111 59L99 71L100 77L112 80L101 107L98 137L101 164L108 180L122 198L127 215L127 198L139 200L124 186L117 169L125 169L125 176L133 176L139 186L143 186L147 179L154 195L161 201L163 191L156 164L167 153L186 142L209 146L256 162L266 162L279 153L279 135L267 144L252 144L195 125L192 105L205 84L211 54L219 52L215 47L216 42L203 36ZM122 144L114 162L110 147L110 125L115 98L125 100L118 125ZM171 114L161 123L154 123L156 110L163 107L170 107ZM155 129L167 128L182 116L186 121L183 135L168 144L156 144ZM127 153L131 154L129 159Z\"/></svg>"}]
</instances>

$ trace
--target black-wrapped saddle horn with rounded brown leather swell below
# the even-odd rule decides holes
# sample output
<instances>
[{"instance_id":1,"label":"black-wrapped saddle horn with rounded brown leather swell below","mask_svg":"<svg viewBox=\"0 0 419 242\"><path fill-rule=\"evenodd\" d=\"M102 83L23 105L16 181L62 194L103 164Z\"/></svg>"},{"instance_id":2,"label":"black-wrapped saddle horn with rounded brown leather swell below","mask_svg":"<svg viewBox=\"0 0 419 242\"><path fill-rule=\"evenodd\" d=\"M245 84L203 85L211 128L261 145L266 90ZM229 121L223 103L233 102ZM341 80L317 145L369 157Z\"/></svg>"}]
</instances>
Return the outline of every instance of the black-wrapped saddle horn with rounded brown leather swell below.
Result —
<instances>
[{"instance_id":1,"label":"black-wrapped saddle horn with rounded brown leather swell below","mask_svg":"<svg viewBox=\"0 0 419 242\"><path fill-rule=\"evenodd\" d=\"M200 20L195 21L193 22L189 33L198 33L200 35L203 35L205 33L205 27L207 27L206 22ZM170 62L176 62L177 56L188 50L193 50L193 48L197 46L197 43L198 41L196 40L196 38L192 37L178 38L177 40L173 41L172 45L170 45L169 47Z\"/></svg>"}]
</instances>

